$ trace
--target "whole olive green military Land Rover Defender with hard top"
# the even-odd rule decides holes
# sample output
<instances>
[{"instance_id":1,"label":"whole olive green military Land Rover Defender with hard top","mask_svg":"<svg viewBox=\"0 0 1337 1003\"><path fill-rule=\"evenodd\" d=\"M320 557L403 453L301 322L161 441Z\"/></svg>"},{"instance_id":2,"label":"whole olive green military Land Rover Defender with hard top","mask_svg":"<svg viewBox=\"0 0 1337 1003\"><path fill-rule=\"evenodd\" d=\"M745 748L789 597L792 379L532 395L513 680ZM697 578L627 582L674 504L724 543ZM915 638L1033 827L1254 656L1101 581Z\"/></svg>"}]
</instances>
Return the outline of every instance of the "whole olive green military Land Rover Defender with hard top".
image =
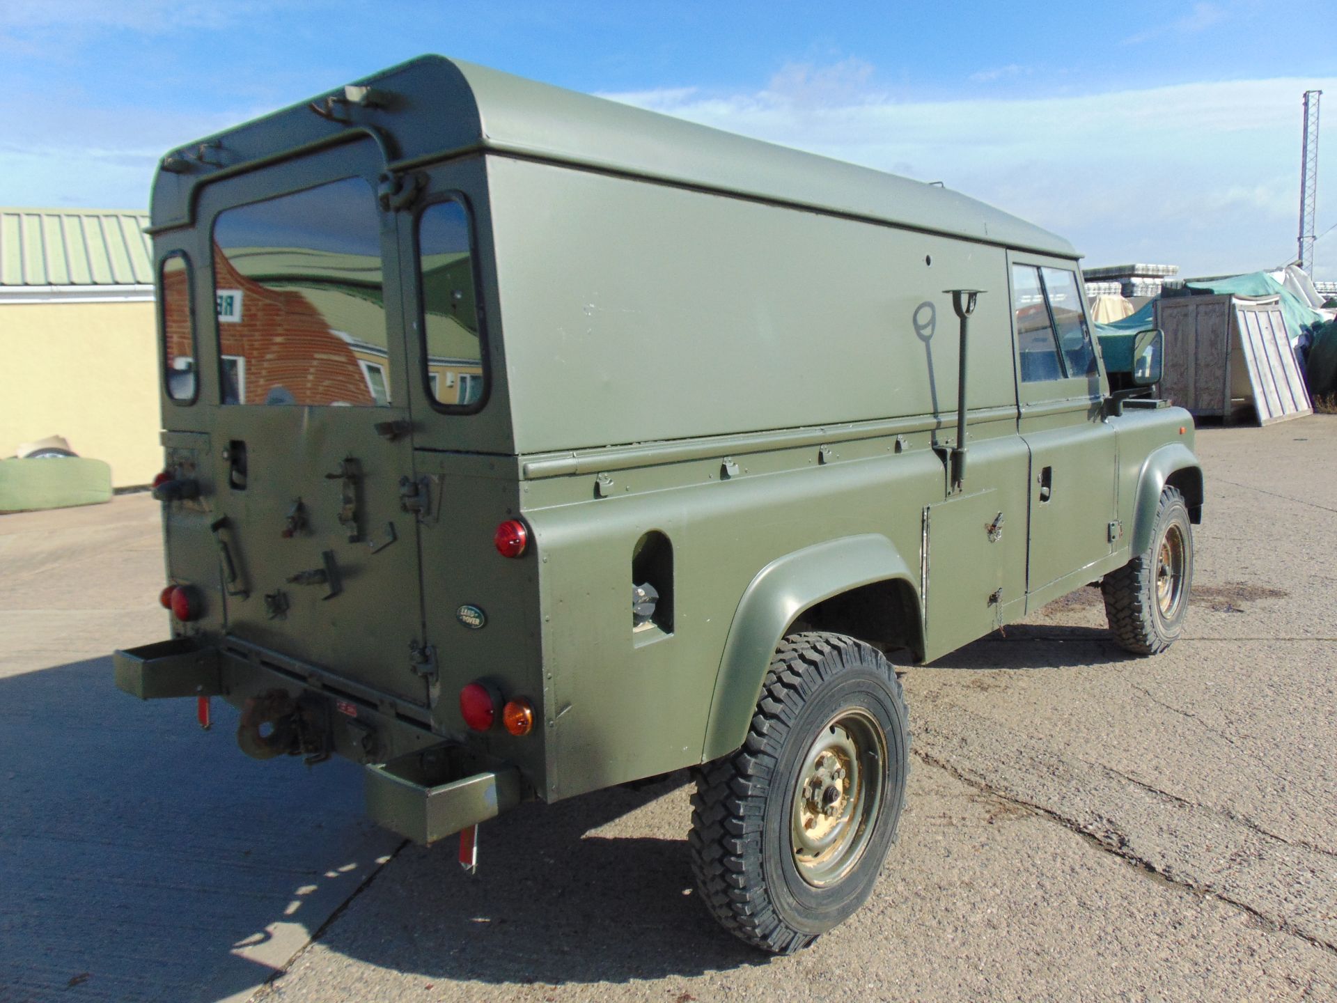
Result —
<instances>
[{"instance_id":1,"label":"whole olive green military Land Rover Defender with hard top","mask_svg":"<svg viewBox=\"0 0 1337 1003\"><path fill-rule=\"evenodd\" d=\"M953 191L427 56L172 151L151 233L171 637L116 683L467 865L694 768L702 899L794 951L894 839L893 663L1092 582L1179 634L1159 332L1111 392L1072 246Z\"/></svg>"}]
</instances>

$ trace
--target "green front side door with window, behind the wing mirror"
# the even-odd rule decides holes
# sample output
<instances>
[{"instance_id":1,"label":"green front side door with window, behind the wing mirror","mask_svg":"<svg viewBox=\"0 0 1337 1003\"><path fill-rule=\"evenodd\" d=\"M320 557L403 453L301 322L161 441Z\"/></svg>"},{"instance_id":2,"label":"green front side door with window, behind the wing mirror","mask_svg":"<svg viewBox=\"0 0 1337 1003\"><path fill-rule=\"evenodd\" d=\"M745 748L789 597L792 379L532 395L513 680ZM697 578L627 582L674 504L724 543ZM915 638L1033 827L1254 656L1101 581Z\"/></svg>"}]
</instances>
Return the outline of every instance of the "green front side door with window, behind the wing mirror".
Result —
<instances>
[{"instance_id":1,"label":"green front side door with window, behind the wing mirror","mask_svg":"<svg viewBox=\"0 0 1337 1003\"><path fill-rule=\"evenodd\" d=\"M1074 262L1012 253L1008 273L1020 433L1031 455L1029 610L1110 555L1116 440Z\"/></svg>"}]
</instances>

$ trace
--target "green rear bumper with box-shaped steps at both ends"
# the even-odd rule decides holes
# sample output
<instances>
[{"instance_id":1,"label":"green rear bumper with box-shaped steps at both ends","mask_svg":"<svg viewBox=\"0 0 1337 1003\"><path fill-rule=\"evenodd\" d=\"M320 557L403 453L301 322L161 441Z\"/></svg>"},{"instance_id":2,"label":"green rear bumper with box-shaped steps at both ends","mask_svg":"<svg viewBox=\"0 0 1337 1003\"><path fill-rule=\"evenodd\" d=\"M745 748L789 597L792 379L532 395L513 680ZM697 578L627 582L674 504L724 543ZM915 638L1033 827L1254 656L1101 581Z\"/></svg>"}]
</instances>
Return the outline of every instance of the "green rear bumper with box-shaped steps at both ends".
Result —
<instances>
[{"instance_id":1,"label":"green rear bumper with box-shaped steps at both ends","mask_svg":"<svg viewBox=\"0 0 1337 1003\"><path fill-rule=\"evenodd\" d=\"M414 843L435 843L495 818L521 800L524 785L512 764L380 714L353 694L332 693L312 685L310 678L298 681L286 671L241 661L207 642L159 641L116 651L112 665L116 687L140 699L223 695L242 706L249 697L285 689L305 694L303 699L324 701L332 707L326 715L329 752L365 766L368 814ZM382 757L388 761L369 761Z\"/></svg>"}]
</instances>

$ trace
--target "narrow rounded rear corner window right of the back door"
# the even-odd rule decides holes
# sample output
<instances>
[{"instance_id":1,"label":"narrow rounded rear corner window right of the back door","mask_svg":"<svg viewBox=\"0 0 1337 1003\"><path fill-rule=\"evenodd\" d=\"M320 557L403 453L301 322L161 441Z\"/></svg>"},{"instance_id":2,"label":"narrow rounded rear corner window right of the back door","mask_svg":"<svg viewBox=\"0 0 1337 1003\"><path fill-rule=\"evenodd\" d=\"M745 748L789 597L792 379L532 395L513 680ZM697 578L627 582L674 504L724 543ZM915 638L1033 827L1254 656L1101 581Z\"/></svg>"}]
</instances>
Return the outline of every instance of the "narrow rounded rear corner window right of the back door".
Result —
<instances>
[{"instance_id":1,"label":"narrow rounded rear corner window right of the back door","mask_svg":"<svg viewBox=\"0 0 1337 1003\"><path fill-rule=\"evenodd\" d=\"M469 215L459 202L437 202L422 211L418 267L428 389L437 404L469 408L483 399L485 360Z\"/></svg>"}]
</instances>

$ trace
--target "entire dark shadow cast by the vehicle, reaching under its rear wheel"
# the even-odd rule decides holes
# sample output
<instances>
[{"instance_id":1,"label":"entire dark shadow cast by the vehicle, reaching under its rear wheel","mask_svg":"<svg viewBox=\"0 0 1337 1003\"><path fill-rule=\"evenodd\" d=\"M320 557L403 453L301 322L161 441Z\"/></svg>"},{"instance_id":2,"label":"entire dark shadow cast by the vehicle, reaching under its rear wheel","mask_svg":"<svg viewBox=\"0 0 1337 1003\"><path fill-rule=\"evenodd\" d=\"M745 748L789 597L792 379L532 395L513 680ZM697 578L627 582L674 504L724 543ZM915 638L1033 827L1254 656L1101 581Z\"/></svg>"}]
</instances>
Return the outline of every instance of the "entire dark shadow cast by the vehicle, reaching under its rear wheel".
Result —
<instances>
[{"instance_id":1,"label":"entire dark shadow cast by the vehicle, reaching under its rear wheel","mask_svg":"<svg viewBox=\"0 0 1337 1003\"><path fill-rule=\"evenodd\" d=\"M203 733L193 701L116 690L108 658L0 678L0 996L245 999L322 929L333 951L429 980L765 960L689 893L686 772L521 806L483 826L469 877L453 840L405 847L372 825L360 768L249 760L235 713L213 706ZM616 821L639 809L647 822Z\"/></svg>"}]
</instances>

